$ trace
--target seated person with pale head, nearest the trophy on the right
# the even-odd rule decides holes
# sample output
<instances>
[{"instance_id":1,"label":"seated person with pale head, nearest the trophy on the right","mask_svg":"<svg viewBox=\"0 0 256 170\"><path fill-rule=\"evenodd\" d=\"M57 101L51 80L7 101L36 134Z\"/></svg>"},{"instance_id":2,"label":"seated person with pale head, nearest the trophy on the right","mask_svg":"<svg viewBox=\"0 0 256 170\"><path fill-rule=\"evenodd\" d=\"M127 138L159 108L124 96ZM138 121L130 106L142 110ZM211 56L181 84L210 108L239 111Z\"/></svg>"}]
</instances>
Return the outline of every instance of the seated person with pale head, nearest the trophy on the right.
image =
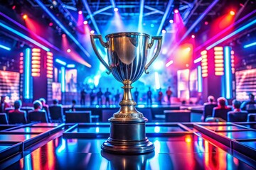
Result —
<instances>
[{"instance_id":1,"label":"seated person with pale head, nearest the trophy on the right","mask_svg":"<svg viewBox=\"0 0 256 170\"><path fill-rule=\"evenodd\" d=\"M213 116L213 108L217 107L217 103L215 103L215 98L213 96L208 96L208 102L203 103L203 115L201 117L201 121L205 122L206 118Z\"/></svg>"}]
</instances>

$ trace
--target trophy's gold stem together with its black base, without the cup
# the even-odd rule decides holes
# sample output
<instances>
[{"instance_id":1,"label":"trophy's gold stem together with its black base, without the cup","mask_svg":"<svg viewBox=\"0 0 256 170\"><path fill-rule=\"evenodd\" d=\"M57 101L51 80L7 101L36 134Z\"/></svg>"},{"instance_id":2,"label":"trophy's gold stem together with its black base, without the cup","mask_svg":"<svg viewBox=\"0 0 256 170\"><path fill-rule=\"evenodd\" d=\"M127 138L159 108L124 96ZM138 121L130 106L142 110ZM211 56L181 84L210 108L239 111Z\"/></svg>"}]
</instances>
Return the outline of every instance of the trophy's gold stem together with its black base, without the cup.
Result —
<instances>
[{"instance_id":1,"label":"trophy's gold stem together with its black base, without the cup","mask_svg":"<svg viewBox=\"0 0 256 170\"><path fill-rule=\"evenodd\" d=\"M136 110L132 98L132 81L124 80L124 96L120 109L110 121L110 137L102 144L105 152L118 154L144 154L154 152L154 145L146 137L146 118Z\"/></svg>"}]
</instances>

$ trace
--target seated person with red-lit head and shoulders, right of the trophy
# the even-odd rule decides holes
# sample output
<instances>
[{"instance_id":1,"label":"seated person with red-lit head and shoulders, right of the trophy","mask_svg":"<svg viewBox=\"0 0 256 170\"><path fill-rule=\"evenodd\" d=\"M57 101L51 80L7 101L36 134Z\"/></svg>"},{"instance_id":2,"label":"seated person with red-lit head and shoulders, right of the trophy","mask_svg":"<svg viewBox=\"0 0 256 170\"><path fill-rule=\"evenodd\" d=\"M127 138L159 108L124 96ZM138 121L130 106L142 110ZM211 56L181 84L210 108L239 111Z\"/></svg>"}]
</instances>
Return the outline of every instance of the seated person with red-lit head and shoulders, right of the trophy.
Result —
<instances>
[{"instance_id":1,"label":"seated person with red-lit head and shoulders, right of the trophy","mask_svg":"<svg viewBox=\"0 0 256 170\"><path fill-rule=\"evenodd\" d=\"M231 111L231 108L228 108L226 105L227 99L220 97L217 99L218 106L213 108L213 117L222 118L223 120L228 120L228 112Z\"/></svg>"}]
</instances>

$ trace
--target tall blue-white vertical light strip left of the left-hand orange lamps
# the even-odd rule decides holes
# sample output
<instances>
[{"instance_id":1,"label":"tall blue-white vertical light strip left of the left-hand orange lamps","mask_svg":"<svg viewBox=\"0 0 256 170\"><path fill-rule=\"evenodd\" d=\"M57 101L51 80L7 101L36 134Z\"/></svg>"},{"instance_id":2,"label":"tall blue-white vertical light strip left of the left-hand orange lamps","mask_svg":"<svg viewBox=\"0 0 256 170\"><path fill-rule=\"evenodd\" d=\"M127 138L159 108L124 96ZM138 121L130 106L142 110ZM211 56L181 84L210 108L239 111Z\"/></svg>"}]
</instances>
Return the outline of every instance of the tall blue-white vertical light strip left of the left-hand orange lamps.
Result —
<instances>
[{"instance_id":1,"label":"tall blue-white vertical light strip left of the left-hand orange lamps","mask_svg":"<svg viewBox=\"0 0 256 170\"><path fill-rule=\"evenodd\" d=\"M27 48L25 52L25 95L24 98L29 99L30 98L30 77L31 77L31 49Z\"/></svg>"}]
</instances>

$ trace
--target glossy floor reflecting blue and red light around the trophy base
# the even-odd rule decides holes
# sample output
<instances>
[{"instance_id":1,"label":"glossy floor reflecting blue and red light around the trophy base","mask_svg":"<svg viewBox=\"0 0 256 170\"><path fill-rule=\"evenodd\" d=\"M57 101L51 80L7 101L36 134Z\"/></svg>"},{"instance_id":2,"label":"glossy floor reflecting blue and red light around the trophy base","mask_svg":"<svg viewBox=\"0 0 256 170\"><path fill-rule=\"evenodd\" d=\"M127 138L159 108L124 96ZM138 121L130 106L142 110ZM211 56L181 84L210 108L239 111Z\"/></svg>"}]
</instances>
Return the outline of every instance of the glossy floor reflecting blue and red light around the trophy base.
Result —
<instances>
[{"instance_id":1,"label":"glossy floor reflecting blue and red light around the trophy base","mask_svg":"<svg viewBox=\"0 0 256 170\"><path fill-rule=\"evenodd\" d=\"M255 123L146 123L149 154L102 152L109 123L0 125L0 169L255 169Z\"/></svg>"}]
</instances>

